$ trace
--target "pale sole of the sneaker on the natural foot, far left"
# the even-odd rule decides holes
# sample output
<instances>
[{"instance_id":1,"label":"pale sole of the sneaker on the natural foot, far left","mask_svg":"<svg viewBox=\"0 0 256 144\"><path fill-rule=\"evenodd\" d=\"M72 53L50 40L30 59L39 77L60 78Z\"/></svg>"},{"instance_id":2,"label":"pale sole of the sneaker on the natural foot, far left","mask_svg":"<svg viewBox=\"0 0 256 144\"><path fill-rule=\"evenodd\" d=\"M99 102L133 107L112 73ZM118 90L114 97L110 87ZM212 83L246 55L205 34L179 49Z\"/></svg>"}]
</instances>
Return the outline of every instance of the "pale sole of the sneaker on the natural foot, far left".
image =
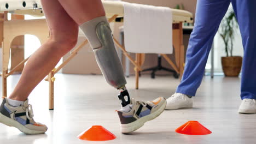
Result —
<instances>
[{"instance_id":1,"label":"pale sole of the sneaker on the natural foot, far left","mask_svg":"<svg viewBox=\"0 0 256 144\"><path fill-rule=\"evenodd\" d=\"M17 121L14 121L13 119L4 116L2 113L0 113L0 123L3 123L5 125L8 125L9 127L15 127L19 129L22 133L33 135L33 134L43 134L45 131L39 131L39 130L31 130L25 127L24 125L20 124Z\"/></svg>"}]
</instances>

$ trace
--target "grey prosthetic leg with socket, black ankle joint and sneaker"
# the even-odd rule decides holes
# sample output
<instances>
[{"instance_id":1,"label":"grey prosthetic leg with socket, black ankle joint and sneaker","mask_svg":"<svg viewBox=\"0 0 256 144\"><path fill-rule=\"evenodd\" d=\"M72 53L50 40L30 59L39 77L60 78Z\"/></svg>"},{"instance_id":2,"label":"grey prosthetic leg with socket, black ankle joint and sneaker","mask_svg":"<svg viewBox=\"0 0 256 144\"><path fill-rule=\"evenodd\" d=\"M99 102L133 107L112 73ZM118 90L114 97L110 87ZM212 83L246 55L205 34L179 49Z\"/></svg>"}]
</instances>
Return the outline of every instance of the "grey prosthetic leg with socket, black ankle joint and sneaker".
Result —
<instances>
[{"instance_id":1,"label":"grey prosthetic leg with socket, black ankle joint and sneaker","mask_svg":"<svg viewBox=\"0 0 256 144\"><path fill-rule=\"evenodd\" d=\"M166 106L164 98L158 98L152 102L130 99L125 87L126 80L123 67L115 50L112 33L106 17L97 17L85 22L80 25L80 28L84 31L94 50L98 66L106 81L120 92L118 98L121 100L123 107L118 111L118 115L122 133L135 131L147 121L158 117Z\"/></svg>"}]
</instances>

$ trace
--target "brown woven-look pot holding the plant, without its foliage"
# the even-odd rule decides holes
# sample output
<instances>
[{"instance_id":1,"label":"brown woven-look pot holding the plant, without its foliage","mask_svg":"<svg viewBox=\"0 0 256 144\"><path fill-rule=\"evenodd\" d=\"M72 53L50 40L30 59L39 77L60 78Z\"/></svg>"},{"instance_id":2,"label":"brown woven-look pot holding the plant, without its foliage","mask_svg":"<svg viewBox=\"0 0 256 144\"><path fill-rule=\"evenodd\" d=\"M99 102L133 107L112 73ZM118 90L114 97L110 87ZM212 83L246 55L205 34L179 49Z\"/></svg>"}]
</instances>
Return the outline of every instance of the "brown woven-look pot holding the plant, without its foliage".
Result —
<instances>
[{"instance_id":1,"label":"brown woven-look pot holding the plant, without its foliage","mask_svg":"<svg viewBox=\"0 0 256 144\"><path fill-rule=\"evenodd\" d=\"M222 57L222 69L225 76L238 76L241 71L243 58L240 56L235 57Z\"/></svg>"}]
</instances>

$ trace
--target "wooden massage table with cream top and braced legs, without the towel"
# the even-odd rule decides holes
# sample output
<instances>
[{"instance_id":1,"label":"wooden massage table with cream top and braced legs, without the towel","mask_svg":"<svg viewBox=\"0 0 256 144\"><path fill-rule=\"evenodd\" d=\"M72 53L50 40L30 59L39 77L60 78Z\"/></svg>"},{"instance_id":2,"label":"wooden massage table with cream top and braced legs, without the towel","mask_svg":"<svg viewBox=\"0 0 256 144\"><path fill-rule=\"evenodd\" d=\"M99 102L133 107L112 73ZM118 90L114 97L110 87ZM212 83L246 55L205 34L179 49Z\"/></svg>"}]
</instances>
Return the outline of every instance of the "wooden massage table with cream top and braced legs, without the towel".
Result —
<instances>
[{"instance_id":1,"label":"wooden massage table with cream top and braced legs, without the towel","mask_svg":"<svg viewBox=\"0 0 256 144\"><path fill-rule=\"evenodd\" d=\"M117 17L124 16L123 2L102 1L106 15L109 18L109 22L114 22ZM0 16L0 41L2 41L2 96L7 97L7 77L18 70L28 58L21 61L16 67L8 71L8 64L10 59L11 41L19 35L32 34L38 37L40 43L43 44L48 39L49 31L46 25L45 19L38 20L7 20L7 13L15 15L33 15L44 16L42 5L39 0L21 1L21 0L0 0L0 12L3 13ZM165 55L161 54L166 61L172 66L172 68L182 76L184 67L184 46L183 46L183 22L193 22L193 15L185 10L172 9L173 13L173 47L175 53L175 62ZM125 19L125 17L124 17ZM124 55L135 65L136 71L136 89L138 89L139 71L144 62L145 55L143 53L136 53L136 59L134 60L129 53L125 50L125 47L114 38L114 43L119 47ZM54 109L54 75L63 68L71 59L77 55L77 52L86 44L88 40L85 40L78 47L75 47L71 51L71 55L64 61L59 67L54 68L46 77L46 81L49 82L49 109Z\"/></svg>"}]
</instances>

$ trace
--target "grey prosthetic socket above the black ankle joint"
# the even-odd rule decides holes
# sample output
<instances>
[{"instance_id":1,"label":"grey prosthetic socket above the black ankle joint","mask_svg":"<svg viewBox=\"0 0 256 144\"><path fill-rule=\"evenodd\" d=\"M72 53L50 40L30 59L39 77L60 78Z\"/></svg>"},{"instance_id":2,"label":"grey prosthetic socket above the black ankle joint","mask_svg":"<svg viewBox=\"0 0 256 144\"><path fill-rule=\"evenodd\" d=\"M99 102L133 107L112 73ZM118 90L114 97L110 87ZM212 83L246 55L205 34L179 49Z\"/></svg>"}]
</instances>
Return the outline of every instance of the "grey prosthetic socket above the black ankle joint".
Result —
<instances>
[{"instance_id":1,"label":"grey prosthetic socket above the black ankle joint","mask_svg":"<svg viewBox=\"0 0 256 144\"><path fill-rule=\"evenodd\" d=\"M125 86L123 67L115 50L112 31L106 16L97 17L79 26L88 39L98 66L109 85L119 89Z\"/></svg>"}]
</instances>

